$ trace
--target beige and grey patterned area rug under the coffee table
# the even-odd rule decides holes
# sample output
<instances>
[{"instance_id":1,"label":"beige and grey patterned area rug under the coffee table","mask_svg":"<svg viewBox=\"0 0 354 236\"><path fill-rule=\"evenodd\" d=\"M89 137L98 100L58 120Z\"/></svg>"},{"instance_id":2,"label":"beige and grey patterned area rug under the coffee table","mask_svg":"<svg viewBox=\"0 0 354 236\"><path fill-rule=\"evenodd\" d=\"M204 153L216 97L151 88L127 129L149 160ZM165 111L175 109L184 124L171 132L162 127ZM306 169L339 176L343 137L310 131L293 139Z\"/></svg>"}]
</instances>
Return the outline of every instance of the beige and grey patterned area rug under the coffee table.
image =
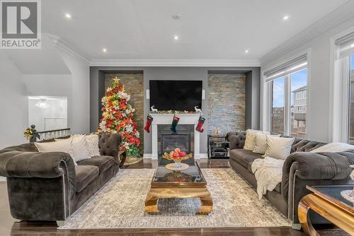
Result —
<instances>
[{"instance_id":1,"label":"beige and grey patterned area rug under the coffee table","mask_svg":"<svg viewBox=\"0 0 354 236\"><path fill-rule=\"evenodd\" d=\"M231 169L202 169L214 208L195 216L200 199L159 199L161 215L144 213L154 170L120 170L59 229L280 227L290 222Z\"/></svg>"}]
</instances>

